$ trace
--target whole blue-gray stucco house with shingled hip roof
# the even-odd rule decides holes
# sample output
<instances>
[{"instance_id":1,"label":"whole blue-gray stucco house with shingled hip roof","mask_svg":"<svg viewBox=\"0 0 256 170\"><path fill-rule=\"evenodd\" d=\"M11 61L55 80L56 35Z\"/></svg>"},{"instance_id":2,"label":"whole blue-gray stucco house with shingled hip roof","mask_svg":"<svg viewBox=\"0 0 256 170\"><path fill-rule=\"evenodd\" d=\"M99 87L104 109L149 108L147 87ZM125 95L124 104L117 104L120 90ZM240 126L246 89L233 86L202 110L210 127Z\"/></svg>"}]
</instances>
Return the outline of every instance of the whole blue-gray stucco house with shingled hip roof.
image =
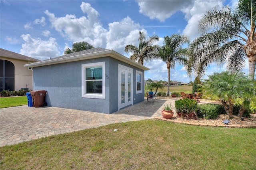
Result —
<instances>
[{"instance_id":1,"label":"whole blue-gray stucco house with shingled hip roof","mask_svg":"<svg viewBox=\"0 0 256 170\"><path fill-rule=\"evenodd\" d=\"M147 67L101 47L24 65L48 106L113 113L144 101Z\"/></svg>"}]
</instances>

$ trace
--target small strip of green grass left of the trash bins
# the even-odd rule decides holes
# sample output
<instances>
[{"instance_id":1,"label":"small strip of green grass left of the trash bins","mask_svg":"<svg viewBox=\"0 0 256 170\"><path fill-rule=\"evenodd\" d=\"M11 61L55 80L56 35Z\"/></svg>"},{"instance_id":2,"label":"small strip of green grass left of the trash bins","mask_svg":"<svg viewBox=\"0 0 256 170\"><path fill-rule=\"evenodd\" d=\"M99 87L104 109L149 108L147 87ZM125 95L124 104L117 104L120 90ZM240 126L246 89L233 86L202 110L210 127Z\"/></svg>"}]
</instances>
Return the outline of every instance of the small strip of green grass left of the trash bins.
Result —
<instances>
[{"instance_id":1,"label":"small strip of green grass left of the trash bins","mask_svg":"<svg viewBox=\"0 0 256 170\"><path fill-rule=\"evenodd\" d=\"M0 97L0 108L27 105L27 96Z\"/></svg>"}]
</instances>

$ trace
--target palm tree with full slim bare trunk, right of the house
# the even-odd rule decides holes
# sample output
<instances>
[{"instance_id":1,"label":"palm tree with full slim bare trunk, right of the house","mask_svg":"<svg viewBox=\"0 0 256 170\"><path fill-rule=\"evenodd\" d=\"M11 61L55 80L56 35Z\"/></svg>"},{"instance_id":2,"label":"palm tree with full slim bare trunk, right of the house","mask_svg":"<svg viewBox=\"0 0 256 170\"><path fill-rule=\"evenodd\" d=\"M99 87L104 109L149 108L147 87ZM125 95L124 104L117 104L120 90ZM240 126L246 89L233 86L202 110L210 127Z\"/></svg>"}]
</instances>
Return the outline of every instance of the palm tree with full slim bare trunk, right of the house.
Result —
<instances>
[{"instance_id":1,"label":"palm tree with full slim bare trunk, right of the house","mask_svg":"<svg viewBox=\"0 0 256 170\"><path fill-rule=\"evenodd\" d=\"M188 49L182 47L186 43L189 44L190 40L185 35L172 34L170 37L164 37L164 45L159 51L159 57L166 62L168 70L167 96L170 96L170 68L175 69L176 62L184 65L187 61Z\"/></svg>"}]
</instances>

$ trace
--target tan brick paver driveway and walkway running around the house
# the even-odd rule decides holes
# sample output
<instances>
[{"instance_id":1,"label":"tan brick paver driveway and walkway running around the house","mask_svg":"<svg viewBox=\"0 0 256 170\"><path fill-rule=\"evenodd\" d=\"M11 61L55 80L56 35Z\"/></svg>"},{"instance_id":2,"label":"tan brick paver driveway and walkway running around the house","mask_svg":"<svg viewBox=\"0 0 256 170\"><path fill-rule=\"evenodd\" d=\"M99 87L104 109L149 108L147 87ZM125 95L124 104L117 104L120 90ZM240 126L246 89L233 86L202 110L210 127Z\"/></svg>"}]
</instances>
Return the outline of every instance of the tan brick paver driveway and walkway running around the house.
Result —
<instances>
[{"instance_id":1,"label":"tan brick paver driveway and walkway running around the house","mask_svg":"<svg viewBox=\"0 0 256 170\"><path fill-rule=\"evenodd\" d=\"M164 103L174 105L175 100L177 99L162 98L154 102L154 105L147 105L144 101L109 115L57 107L28 107L27 105L3 108L0 110L0 146L111 123L161 117Z\"/></svg>"}]
</instances>

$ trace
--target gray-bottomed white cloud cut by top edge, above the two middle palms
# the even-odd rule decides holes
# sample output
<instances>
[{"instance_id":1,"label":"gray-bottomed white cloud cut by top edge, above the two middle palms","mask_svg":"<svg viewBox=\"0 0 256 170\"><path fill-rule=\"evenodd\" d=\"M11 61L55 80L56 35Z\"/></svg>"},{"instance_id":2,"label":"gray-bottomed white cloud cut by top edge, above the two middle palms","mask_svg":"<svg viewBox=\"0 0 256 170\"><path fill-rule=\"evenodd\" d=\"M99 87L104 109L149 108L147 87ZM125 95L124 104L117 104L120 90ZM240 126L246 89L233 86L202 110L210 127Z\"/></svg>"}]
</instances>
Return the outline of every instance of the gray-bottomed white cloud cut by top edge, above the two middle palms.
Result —
<instances>
[{"instance_id":1,"label":"gray-bottomed white cloud cut by top edge, above the two middle palms","mask_svg":"<svg viewBox=\"0 0 256 170\"><path fill-rule=\"evenodd\" d=\"M191 6L194 1L184 0L154 0L154 1L138 1L140 6L140 13L148 16L150 19L157 19L164 22L170 18L172 14L184 8L184 6Z\"/></svg>"}]
</instances>

